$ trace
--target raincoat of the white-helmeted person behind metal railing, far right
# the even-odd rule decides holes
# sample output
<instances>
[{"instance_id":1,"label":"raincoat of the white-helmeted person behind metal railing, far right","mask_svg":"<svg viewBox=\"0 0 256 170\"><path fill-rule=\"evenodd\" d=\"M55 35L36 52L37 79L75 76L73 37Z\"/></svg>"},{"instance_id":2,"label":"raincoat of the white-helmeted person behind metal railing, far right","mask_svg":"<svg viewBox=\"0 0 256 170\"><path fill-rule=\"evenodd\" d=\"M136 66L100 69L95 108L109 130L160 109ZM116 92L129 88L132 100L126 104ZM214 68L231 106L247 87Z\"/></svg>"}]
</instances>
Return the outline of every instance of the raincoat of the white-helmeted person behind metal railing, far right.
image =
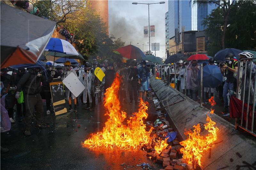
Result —
<instances>
[{"instance_id":1,"label":"raincoat of the white-helmeted person behind metal railing, far right","mask_svg":"<svg viewBox=\"0 0 256 170\"><path fill-rule=\"evenodd\" d=\"M251 63L250 61L246 62L247 68L246 68L246 78L245 78L245 89L244 89L244 83L242 83L242 93L244 93L244 102L247 103L248 100L248 91L249 91L249 78L250 78L250 69L251 69ZM245 65L244 65L245 68ZM243 73L242 73L242 80L244 81L244 76L245 76L245 69L243 68ZM251 89L250 89L250 99L249 99L249 104L253 103L253 94L254 94L254 83L255 83L255 76L256 76L256 65L252 63L252 77L251 77ZM241 100L243 100L243 95Z\"/></svg>"}]
</instances>

